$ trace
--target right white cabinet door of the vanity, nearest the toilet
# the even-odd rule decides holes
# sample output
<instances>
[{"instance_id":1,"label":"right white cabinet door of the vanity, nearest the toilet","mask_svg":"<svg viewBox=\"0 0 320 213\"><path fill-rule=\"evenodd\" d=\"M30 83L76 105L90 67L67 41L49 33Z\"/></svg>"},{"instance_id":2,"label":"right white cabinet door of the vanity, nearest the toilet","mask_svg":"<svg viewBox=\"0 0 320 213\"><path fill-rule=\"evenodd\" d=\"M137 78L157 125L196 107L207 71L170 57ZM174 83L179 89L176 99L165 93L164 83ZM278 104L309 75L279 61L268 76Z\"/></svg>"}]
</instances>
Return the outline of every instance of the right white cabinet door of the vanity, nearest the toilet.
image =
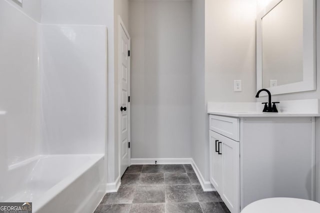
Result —
<instances>
[{"instance_id":1,"label":"right white cabinet door of the vanity, nearest the toilet","mask_svg":"<svg viewBox=\"0 0 320 213\"><path fill-rule=\"evenodd\" d=\"M222 156L222 194L221 199L231 213L239 213L240 204L240 156L239 142L226 137L220 139Z\"/></svg>"}]
</instances>

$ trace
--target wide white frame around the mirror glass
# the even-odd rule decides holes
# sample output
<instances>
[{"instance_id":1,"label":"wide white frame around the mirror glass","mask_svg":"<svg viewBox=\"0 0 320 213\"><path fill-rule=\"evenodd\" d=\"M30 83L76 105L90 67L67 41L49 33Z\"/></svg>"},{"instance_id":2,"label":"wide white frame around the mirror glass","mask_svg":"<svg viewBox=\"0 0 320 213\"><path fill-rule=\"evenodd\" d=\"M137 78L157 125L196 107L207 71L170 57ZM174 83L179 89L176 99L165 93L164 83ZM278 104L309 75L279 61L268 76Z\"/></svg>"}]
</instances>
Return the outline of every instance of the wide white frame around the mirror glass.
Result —
<instances>
[{"instance_id":1,"label":"wide white frame around the mirror glass","mask_svg":"<svg viewBox=\"0 0 320 213\"><path fill-rule=\"evenodd\" d=\"M262 89L262 18L282 0L271 2L256 19L256 90ZM311 11L311 12L310 12ZM316 89L315 0L303 0L303 80L268 89L272 95ZM262 94L261 94L262 95Z\"/></svg>"}]
</instances>

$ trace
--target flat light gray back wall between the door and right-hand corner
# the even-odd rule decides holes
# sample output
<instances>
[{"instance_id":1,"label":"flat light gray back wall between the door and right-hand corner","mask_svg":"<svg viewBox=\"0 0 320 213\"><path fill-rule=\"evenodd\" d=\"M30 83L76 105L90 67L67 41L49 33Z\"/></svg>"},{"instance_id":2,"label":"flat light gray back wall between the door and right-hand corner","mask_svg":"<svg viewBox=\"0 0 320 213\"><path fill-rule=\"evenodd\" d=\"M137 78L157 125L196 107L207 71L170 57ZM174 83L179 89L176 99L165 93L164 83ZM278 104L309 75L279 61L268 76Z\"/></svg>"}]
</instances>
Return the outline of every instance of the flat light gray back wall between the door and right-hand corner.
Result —
<instances>
[{"instance_id":1,"label":"flat light gray back wall between the door and right-hand corner","mask_svg":"<svg viewBox=\"0 0 320 213\"><path fill-rule=\"evenodd\" d=\"M189 158L191 1L129 1L129 33L131 158Z\"/></svg>"}]
</instances>

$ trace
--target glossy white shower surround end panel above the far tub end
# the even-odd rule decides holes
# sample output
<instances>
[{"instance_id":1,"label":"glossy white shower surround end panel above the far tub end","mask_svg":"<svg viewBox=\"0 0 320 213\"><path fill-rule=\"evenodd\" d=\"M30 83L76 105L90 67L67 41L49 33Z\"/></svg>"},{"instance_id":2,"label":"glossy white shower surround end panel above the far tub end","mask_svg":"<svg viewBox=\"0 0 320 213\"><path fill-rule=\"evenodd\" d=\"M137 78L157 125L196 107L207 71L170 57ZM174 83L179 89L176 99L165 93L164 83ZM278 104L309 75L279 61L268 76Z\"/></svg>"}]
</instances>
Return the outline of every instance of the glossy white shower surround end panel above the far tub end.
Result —
<instances>
[{"instance_id":1,"label":"glossy white shower surround end panel above the far tub end","mask_svg":"<svg viewBox=\"0 0 320 213\"><path fill-rule=\"evenodd\" d=\"M104 154L106 27L42 24L41 114L45 154Z\"/></svg>"}]
</instances>

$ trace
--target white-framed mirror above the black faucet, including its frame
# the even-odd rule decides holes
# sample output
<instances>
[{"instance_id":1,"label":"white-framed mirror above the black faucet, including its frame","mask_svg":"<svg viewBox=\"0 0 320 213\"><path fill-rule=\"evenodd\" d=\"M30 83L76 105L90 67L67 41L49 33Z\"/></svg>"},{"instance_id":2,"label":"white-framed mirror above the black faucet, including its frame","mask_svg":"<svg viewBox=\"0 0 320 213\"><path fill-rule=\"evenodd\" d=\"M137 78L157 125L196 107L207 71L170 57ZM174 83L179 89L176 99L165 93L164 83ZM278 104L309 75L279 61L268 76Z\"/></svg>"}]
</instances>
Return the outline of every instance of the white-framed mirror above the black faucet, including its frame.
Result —
<instances>
[{"instance_id":1,"label":"white-framed mirror above the black faucet, including its frame","mask_svg":"<svg viewBox=\"0 0 320 213\"><path fill-rule=\"evenodd\" d=\"M315 0L270 0L256 20L257 90L315 90L315 75Z\"/></svg>"}]
</instances>

